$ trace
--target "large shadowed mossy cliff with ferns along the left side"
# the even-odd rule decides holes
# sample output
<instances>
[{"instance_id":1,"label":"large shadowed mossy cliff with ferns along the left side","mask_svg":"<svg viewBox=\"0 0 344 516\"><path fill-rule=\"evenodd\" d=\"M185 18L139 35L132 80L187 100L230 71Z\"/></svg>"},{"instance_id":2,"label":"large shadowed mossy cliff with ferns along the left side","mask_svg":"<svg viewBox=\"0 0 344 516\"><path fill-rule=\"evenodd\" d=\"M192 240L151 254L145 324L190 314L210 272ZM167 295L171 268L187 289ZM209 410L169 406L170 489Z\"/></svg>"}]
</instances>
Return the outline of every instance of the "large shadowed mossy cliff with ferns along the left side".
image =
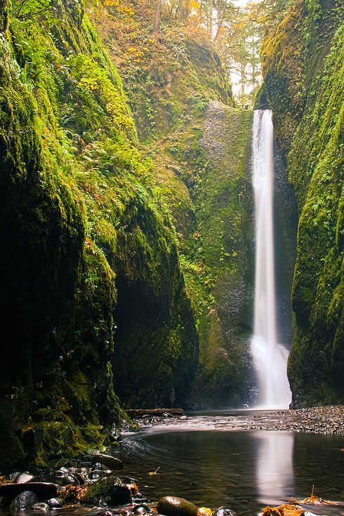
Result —
<instances>
[{"instance_id":1,"label":"large shadowed mossy cliff with ferns along the left side","mask_svg":"<svg viewBox=\"0 0 344 516\"><path fill-rule=\"evenodd\" d=\"M127 359L132 404L183 402L198 355L117 70L81 1L42 4L0 7L2 470L111 439Z\"/></svg>"}]
</instances>

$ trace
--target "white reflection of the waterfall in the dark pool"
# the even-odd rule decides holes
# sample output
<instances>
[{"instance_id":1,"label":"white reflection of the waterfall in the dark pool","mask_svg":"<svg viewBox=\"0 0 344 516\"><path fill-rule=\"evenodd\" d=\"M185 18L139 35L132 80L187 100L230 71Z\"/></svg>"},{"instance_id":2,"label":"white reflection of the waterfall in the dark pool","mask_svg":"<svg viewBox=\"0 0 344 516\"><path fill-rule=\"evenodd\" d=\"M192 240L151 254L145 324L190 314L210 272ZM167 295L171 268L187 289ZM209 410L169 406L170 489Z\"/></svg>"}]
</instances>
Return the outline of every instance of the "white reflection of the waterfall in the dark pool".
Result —
<instances>
[{"instance_id":1,"label":"white reflection of the waterfall in the dark pool","mask_svg":"<svg viewBox=\"0 0 344 516\"><path fill-rule=\"evenodd\" d=\"M256 484L260 503L282 503L294 492L291 432L255 432L258 439Z\"/></svg>"}]
</instances>

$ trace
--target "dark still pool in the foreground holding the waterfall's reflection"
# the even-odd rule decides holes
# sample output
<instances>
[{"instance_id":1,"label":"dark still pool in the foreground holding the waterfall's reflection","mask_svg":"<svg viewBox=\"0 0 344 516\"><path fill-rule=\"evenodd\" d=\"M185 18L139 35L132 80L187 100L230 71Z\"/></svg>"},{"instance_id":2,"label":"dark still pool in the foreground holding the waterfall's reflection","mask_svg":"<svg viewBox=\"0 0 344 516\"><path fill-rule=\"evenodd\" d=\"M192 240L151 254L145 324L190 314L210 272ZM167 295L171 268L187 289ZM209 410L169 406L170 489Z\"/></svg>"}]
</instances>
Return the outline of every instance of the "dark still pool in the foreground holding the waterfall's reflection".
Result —
<instances>
[{"instance_id":1,"label":"dark still pool in the foreground holding the waterfall's reflection","mask_svg":"<svg viewBox=\"0 0 344 516\"><path fill-rule=\"evenodd\" d=\"M189 426L152 428L124 439L126 472L151 500L176 495L199 506L256 514L265 505L310 496L314 484L315 495L338 505L308 510L344 515L343 436Z\"/></svg>"}]
</instances>

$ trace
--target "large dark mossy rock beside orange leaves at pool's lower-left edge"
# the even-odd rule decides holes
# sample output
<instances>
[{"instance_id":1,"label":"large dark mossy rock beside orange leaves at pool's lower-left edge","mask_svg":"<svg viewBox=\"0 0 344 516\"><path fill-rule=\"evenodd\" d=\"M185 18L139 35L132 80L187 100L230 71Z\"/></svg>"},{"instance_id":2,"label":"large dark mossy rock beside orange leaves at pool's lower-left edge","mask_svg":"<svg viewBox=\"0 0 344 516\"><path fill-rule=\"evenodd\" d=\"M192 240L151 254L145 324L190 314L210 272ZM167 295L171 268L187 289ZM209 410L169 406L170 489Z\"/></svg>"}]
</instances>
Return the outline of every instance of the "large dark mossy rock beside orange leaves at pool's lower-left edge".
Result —
<instances>
[{"instance_id":1,"label":"large dark mossy rock beside orange leaves at pool's lower-left edge","mask_svg":"<svg viewBox=\"0 0 344 516\"><path fill-rule=\"evenodd\" d=\"M120 503L131 502L131 494L121 479L111 476L100 478L90 484L84 496L80 499L81 503L91 505L119 505Z\"/></svg>"}]
</instances>

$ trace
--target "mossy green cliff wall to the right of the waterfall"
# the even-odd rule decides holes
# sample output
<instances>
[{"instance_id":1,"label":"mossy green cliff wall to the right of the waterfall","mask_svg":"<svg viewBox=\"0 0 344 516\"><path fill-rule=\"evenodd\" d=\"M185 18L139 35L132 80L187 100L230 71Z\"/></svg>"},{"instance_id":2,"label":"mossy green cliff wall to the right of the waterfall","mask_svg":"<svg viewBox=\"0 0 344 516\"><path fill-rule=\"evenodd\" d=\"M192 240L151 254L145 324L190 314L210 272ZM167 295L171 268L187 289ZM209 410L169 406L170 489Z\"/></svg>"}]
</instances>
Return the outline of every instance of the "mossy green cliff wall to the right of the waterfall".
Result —
<instances>
[{"instance_id":1,"label":"mossy green cliff wall to the right of the waterfall","mask_svg":"<svg viewBox=\"0 0 344 516\"><path fill-rule=\"evenodd\" d=\"M263 44L263 75L298 202L289 380L294 404L344 395L344 6L298 1Z\"/></svg>"}]
</instances>

